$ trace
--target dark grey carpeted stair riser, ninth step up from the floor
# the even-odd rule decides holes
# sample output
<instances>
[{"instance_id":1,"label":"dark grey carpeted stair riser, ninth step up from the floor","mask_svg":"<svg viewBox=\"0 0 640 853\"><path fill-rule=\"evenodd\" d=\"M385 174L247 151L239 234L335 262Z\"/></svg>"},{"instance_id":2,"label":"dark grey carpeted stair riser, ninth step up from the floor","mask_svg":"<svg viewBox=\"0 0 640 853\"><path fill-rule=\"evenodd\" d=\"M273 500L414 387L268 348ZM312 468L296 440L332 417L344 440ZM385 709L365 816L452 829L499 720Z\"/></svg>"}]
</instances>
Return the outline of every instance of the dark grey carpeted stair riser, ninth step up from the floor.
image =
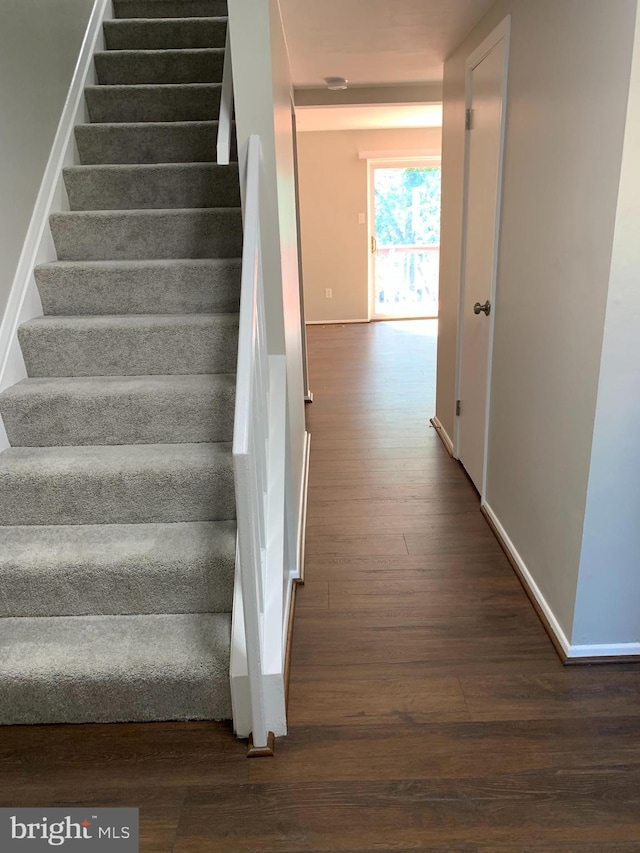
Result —
<instances>
[{"instance_id":1,"label":"dark grey carpeted stair riser, ninth step up from the floor","mask_svg":"<svg viewBox=\"0 0 640 853\"><path fill-rule=\"evenodd\" d=\"M217 122L84 124L75 129L79 162L215 163ZM232 159L237 159L235 128Z\"/></svg>"}]
</instances>

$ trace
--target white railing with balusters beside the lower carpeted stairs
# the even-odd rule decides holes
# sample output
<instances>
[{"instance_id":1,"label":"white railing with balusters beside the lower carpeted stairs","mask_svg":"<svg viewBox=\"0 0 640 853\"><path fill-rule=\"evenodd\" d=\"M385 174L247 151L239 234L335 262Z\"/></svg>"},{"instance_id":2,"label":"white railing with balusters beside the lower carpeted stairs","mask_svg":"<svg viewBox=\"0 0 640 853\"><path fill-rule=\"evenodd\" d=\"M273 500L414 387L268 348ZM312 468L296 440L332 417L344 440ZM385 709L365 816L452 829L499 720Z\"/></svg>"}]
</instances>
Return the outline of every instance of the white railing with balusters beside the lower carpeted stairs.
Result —
<instances>
[{"instance_id":1,"label":"white railing with balusters beside the lower carpeted stairs","mask_svg":"<svg viewBox=\"0 0 640 853\"><path fill-rule=\"evenodd\" d=\"M286 732L282 640L286 366L284 356L269 355L267 348L258 136L249 138L242 154L246 180L233 464L239 580L235 600L242 608L244 629L236 645L242 647L248 684L237 688L234 720L238 733L251 731L254 748L263 749L270 733ZM234 612L234 623L239 618ZM234 630L234 643L235 638ZM232 673L232 689L233 684Z\"/></svg>"}]
</instances>

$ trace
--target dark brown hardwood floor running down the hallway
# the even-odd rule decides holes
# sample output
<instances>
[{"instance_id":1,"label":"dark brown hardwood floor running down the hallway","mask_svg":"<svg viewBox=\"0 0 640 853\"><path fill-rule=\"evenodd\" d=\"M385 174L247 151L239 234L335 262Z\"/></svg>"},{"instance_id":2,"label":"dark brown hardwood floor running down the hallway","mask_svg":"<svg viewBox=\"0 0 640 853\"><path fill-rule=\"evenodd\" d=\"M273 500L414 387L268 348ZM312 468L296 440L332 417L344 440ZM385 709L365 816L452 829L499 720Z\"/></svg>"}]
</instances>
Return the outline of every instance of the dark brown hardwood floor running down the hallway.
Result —
<instances>
[{"instance_id":1,"label":"dark brown hardwood floor running down the hallway","mask_svg":"<svg viewBox=\"0 0 640 853\"><path fill-rule=\"evenodd\" d=\"M638 853L640 670L564 668L433 429L435 327L310 327L289 737L0 730L0 805L138 805L143 853Z\"/></svg>"}]
</instances>

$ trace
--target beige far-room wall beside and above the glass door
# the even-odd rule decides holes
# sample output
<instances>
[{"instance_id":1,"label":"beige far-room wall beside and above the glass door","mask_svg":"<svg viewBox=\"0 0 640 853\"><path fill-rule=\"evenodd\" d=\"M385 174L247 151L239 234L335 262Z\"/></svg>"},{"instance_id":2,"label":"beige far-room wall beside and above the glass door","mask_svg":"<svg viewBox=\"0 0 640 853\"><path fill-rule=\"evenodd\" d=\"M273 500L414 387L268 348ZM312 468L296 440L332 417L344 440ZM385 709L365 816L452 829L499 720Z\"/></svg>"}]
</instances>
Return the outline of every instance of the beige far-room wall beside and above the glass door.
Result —
<instances>
[{"instance_id":1,"label":"beige far-room wall beside and above the glass door","mask_svg":"<svg viewBox=\"0 0 640 853\"><path fill-rule=\"evenodd\" d=\"M440 128L298 134L300 216L307 321L367 320L369 244L364 151L440 155ZM333 298L325 298L330 287Z\"/></svg>"}]
</instances>

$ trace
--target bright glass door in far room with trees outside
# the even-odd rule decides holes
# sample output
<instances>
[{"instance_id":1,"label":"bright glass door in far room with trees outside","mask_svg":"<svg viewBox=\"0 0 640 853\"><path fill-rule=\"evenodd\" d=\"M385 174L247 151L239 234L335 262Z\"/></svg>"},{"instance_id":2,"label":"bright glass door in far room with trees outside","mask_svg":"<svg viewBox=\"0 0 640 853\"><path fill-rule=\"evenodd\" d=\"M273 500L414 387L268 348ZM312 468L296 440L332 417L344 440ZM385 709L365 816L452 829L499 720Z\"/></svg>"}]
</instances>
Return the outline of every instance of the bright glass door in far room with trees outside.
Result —
<instances>
[{"instance_id":1,"label":"bright glass door in far room with trees outside","mask_svg":"<svg viewBox=\"0 0 640 853\"><path fill-rule=\"evenodd\" d=\"M369 316L438 316L439 158L369 162Z\"/></svg>"}]
</instances>

